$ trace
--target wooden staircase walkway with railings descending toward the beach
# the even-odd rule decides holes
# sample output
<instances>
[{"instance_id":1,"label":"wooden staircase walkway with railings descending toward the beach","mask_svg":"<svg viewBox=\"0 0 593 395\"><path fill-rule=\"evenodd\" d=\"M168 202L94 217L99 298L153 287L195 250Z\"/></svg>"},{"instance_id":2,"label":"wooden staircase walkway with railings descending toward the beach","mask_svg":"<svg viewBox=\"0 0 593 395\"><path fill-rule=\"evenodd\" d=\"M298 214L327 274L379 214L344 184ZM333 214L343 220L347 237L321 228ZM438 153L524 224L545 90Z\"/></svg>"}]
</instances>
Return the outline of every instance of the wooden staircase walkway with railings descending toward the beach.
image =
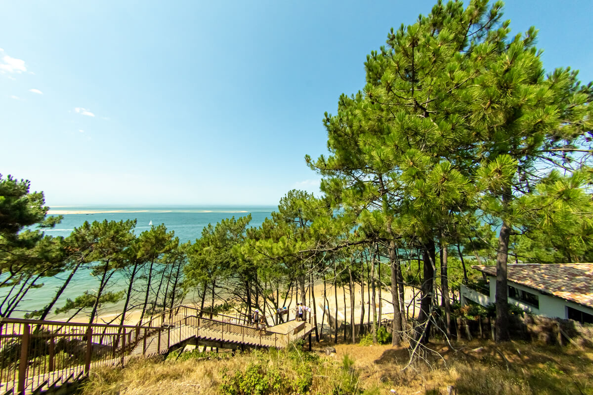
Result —
<instances>
[{"instance_id":1,"label":"wooden staircase walkway with railings descending toward the beach","mask_svg":"<svg viewBox=\"0 0 593 395\"><path fill-rule=\"evenodd\" d=\"M175 306L141 325L0 318L0 395L60 386L96 367L124 365L135 357L162 354L173 341L219 335L222 342L283 346L282 333L245 325L244 316Z\"/></svg>"}]
</instances>

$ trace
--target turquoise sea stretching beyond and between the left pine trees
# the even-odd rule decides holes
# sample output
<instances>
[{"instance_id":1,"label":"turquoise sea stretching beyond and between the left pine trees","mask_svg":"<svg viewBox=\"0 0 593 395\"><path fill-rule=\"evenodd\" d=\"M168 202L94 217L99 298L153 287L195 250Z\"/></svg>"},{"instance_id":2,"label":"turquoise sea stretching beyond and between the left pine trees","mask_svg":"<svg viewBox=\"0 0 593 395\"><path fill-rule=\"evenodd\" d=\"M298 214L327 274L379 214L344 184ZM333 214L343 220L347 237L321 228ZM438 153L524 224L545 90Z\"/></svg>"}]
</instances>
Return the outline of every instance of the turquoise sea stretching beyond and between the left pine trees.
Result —
<instances>
[{"instance_id":1,"label":"turquoise sea stretching beyond and between the left pine trees","mask_svg":"<svg viewBox=\"0 0 593 395\"><path fill-rule=\"evenodd\" d=\"M49 215L63 215L63 220L54 229L46 230L50 236L68 236L74 227L81 226L85 221L121 221L135 219L136 233L150 229L149 223L153 225L165 224L168 231L173 230L179 237L181 243L198 239L202 235L202 229L209 223L216 224L225 218L243 217L251 214L250 226L259 226L270 213L276 210L275 206L224 206L224 207L52 207ZM68 213L68 214L66 214ZM31 290L26 300L20 305L15 317L23 316L26 311L41 309L55 295L55 290L62 284L61 278L49 278L44 281L44 286ZM118 281L119 280L119 281ZM76 272L75 278L56 304L62 306L66 298L75 298L84 291L93 290L97 287L98 280L89 271ZM111 290L119 291L126 287L123 279L114 278ZM117 311L119 306L106 307L103 313Z\"/></svg>"}]
</instances>

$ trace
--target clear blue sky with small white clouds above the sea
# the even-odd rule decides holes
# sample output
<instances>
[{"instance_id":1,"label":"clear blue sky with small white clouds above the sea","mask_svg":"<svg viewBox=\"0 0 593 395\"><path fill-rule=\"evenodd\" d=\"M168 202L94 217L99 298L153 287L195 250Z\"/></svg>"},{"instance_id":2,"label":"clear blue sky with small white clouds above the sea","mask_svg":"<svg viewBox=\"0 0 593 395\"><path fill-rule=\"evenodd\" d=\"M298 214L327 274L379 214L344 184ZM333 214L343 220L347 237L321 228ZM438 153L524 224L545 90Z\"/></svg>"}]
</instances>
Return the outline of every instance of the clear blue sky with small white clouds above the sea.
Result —
<instances>
[{"instance_id":1,"label":"clear blue sky with small white clouds above the sea","mask_svg":"<svg viewBox=\"0 0 593 395\"><path fill-rule=\"evenodd\" d=\"M0 173L56 205L277 204L315 191L323 113L434 1L4 1ZM508 1L593 80L593 2Z\"/></svg>"}]
</instances>

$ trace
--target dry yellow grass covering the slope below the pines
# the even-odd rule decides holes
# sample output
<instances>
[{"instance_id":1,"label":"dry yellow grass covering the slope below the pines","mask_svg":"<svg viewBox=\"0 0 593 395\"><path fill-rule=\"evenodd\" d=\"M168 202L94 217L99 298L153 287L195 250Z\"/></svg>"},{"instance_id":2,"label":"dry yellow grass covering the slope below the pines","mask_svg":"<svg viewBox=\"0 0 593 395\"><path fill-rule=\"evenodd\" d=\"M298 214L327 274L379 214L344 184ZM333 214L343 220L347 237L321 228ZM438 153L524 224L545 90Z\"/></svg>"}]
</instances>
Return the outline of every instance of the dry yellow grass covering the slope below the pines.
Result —
<instances>
[{"instance_id":1,"label":"dry yellow grass covering the slope below the pines","mask_svg":"<svg viewBox=\"0 0 593 395\"><path fill-rule=\"evenodd\" d=\"M244 377L250 366L263 367L271 375L296 383L302 373L299 366L307 363L313 366L311 394L348 393L355 387L355 392L358 388L365 394L390 394L391 389L397 394L447 394L447 386L455 386L460 395L593 394L591 349L480 341L459 343L455 349L438 343L432 346L442 359L428 356L428 364L418 362L406 370L402 368L408 362L408 351L382 345L340 344L337 354L316 353L318 357L312 359L303 351L258 351L220 359L136 361L123 370L95 371L84 394L220 394L222 383L235 374ZM320 345L317 351L322 349ZM345 355L354 361L350 369L342 366ZM358 386L340 387L340 382L350 377L347 371L358 376ZM280 388L276 393L285 390Z\"/></svg>"}]
</instances>

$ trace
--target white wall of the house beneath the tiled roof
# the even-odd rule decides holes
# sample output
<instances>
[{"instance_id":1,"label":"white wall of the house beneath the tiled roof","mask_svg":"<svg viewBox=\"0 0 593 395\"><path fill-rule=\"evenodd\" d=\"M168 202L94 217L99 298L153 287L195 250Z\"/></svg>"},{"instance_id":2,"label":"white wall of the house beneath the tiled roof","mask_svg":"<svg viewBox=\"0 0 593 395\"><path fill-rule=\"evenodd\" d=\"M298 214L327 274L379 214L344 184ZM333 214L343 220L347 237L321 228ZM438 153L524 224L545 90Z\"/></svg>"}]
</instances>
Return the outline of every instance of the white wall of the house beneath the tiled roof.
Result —
<instances>
[{"instance_id":1,"label":"white wall of the house beneath the tiled roof","mask_svg":"<svg viewBox=\"0 0 593 395\"><path fill-rule=\"evenodd\" d=\"M490 295L486 296L482 293L477 291L471 290L470 288L465 287L464 285L461 286L461 294L463 297L472 300L476 303L482 304L482 306L486 306L488 303L495 303L496 300L496 277L489 276L490 279ZM547 317L559 317L562 319L568 318L568 310L567 307L572 307L573 309L583 311L584 313L593 315L593 309L590 307L583 306L582 304L573 303L568 300L564 300L559 297L545 295L540 293L539 291L534 290L533 288L524 287L521 284L517 284L516 282L509 281L508 285L511 287L515 287L518 290L523 290L532 294L537 295L539 300L539 309L536 309L533 306L528 304L522 303L521 301L514 300L513 298L508 298L509 303L517 304L517 306L521 307L522 309L529 310L534 314L540 314L542 316Z\"/></svg>"}]
</instances>

